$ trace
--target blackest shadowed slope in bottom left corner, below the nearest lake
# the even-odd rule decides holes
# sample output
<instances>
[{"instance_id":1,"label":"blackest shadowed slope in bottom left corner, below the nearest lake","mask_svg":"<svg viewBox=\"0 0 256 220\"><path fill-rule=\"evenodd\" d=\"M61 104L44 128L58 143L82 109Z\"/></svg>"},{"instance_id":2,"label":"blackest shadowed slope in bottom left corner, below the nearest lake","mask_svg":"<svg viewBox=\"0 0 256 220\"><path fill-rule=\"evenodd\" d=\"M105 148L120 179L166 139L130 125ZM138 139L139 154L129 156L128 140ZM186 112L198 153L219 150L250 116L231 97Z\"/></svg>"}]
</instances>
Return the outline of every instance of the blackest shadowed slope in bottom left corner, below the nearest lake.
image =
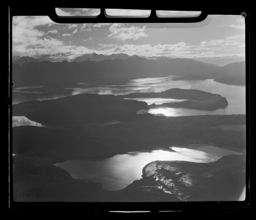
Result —
<instances>
[{"instance_id":1,"label":"blackest shadowed slope in bottom left corner, below the nearest lake","mask_svg":"<svg viewBox=\"0 0 256 220\"><path fill-rule=\"evenodd\" d=\"M15 202L172 202L175 196L155 189L106 191L90 180L75 180L69 173L33 154L13 157Z\"/></svg>"}]
</instances>

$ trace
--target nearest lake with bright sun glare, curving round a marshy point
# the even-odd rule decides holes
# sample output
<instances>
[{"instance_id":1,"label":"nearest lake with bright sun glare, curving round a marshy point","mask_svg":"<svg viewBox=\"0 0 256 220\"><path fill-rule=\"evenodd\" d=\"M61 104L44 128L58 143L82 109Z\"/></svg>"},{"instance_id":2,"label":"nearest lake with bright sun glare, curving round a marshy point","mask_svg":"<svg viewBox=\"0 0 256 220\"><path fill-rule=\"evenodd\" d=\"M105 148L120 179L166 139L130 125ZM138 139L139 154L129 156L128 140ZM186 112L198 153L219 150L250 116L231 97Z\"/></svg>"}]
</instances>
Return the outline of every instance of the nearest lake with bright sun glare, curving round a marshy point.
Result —
<instances>
[{"instance_id":1,"label":"nearest lake with bright sun glare, curving round a marshy point","mask_svg":"<svg viewBox=\"0 0 256 220\"><path fill-rule=\"evenodd\" d=\"M171 147L174 151L128 152L102 160L67 160L54 165L67 170L74 179L93 180L106 190L120 190L141 178L142 169L155 160L184 160L214 162L224 155L241 154L226 148L205 144L190 144L186 148Z\"/></svg>"}]
</instances>

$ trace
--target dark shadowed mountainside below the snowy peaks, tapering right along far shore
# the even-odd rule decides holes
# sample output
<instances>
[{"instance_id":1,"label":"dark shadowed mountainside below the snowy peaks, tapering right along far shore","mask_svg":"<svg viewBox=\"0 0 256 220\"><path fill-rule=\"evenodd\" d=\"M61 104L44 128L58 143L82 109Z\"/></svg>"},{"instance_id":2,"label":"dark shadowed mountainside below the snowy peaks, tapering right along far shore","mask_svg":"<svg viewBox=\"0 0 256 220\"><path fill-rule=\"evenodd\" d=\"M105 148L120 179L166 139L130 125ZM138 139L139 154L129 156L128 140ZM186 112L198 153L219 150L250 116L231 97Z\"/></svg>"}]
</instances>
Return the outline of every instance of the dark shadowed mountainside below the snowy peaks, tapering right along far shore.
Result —
<instances>
[{"instance_id":1,"label":"dark shadowed mountainside below the snowy peaks, tapering right along far shore","mask_svg":"<svg viewBox=\"0 0 256 220\"><path fill-rule=\"evenodd\" d=\"M78 59L78 58L77 58ZM17 61L16 61L17 62ZM127 59L108 59L102 61L13 63L12 81L14 84L35 84L57 80L85 82L104 79L134 79L187 75L214 70L216 67L191 59L148 60L139 56Z\"/></svg>"}]
</instances>

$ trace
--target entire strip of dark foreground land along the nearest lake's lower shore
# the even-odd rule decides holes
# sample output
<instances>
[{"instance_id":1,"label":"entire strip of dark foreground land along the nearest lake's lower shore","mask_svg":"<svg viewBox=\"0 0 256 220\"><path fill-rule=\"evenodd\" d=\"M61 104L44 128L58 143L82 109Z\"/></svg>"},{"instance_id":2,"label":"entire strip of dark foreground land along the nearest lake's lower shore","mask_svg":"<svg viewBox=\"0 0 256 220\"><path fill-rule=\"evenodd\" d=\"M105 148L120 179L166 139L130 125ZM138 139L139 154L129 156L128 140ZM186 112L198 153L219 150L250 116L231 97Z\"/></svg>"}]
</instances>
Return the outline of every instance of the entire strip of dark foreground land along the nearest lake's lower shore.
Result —
<instances>
[{"instance_id":1,"label":"entire strip of dark foreground land along the nearest lake's lower shore","mask_svg":"<svg viewBox=\"0 0 256 220\"><path fill-rule=\"evenodd\" d=\"M66 170L32 154L13 157L15 202L178 202L235 201L245 184L245 155L212 163L156 161L125 189L106 191L90 180L75 180Z\"/></svg>"}]
</instances>

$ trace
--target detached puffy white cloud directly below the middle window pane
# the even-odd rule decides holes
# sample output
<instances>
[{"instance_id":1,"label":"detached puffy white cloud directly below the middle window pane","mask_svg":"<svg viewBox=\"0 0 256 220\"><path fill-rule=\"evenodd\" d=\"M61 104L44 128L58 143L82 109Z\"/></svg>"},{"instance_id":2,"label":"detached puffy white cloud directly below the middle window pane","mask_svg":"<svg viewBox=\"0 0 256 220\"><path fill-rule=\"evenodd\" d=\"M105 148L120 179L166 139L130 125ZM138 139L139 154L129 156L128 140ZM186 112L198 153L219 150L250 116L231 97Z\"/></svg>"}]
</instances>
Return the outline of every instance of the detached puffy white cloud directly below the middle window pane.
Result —
<instances>
[{"instance_id":1,"label":"detached puffy white cloud directly below the middle window pane","mask_svg":"<svg viewBox=\"0 0 256 220\"><path fill-rule=\"evenodd\" d=\"M125 40L138 40L148 35L144 32L146 26L142 28L138 26L125 27L125 24L115 23L110 26L108 38L113 38L121 41Z\"/></svg>"}]
</instances>

